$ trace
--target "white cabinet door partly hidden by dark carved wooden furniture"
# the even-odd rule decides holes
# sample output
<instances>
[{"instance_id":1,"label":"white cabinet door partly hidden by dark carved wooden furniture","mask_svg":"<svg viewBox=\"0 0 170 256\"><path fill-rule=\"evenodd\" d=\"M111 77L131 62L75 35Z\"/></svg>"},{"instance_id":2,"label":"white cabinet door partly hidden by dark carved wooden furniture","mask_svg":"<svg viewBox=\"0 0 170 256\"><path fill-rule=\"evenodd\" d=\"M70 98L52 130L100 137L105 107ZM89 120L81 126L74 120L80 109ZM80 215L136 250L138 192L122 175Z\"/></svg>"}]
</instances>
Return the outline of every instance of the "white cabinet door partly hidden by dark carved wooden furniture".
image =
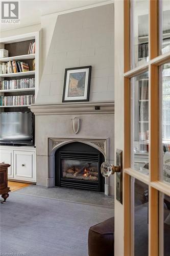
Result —
<instances>
[{"instance_id":1,"label":"white cabinet door partly hidden by dark carved wooden furniture","mask_svg":"<svg viewBox=\"0 0 170 256\"><path fill-rule=\"evenodd\" d=\"M8 163L11 166L8 168L8 178L13 178L13 151L12 150L1 150L0 151L0 162Z\"/></svg>"}]
</instances>

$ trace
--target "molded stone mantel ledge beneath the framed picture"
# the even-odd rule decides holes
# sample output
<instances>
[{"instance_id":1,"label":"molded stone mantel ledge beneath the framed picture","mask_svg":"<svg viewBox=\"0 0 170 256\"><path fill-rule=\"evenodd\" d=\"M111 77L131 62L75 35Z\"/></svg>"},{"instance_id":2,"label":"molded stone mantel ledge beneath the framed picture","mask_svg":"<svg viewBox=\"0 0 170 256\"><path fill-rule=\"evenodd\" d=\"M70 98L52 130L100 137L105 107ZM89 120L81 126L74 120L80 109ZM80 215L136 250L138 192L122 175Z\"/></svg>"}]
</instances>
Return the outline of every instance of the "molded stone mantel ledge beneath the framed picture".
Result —
<instances>
[{"instance_id":1,"label":"molded stone mantel ledge beneath the framed picture","mask_svg":"<svg viewBox=\"0 0 170 256\"><path fill-rule=\"evenodd\" d=\"M114 101L33 104L29 109L35 115L114 114Z\"/></svg>"}]
</instances>

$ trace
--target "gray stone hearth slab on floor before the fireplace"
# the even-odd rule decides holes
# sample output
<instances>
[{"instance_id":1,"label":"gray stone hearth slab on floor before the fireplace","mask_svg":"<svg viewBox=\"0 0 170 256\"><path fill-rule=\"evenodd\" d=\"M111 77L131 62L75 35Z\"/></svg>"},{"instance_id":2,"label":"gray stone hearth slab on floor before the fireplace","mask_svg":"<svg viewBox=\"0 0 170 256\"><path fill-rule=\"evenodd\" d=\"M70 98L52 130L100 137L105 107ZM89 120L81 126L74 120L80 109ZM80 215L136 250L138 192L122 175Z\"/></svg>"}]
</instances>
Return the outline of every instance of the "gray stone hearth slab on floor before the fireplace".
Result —
<instances>
[{"instance_id":1,"label":"gray stone hearth slab on floor before the fireplace","mask_svg":"<svg viewBox=\"0 0 170 256\"><path fill-rule=\"evenodd\" d=\"M41 196L46 198L56 198L71 202L96 204L108 208L114 208L114 197L105 196L104 193L97 191L65 188L65 187L42 187L30 185L29 187L21 188L15 193L26 195Z\"/></svg>"}]
</instances>

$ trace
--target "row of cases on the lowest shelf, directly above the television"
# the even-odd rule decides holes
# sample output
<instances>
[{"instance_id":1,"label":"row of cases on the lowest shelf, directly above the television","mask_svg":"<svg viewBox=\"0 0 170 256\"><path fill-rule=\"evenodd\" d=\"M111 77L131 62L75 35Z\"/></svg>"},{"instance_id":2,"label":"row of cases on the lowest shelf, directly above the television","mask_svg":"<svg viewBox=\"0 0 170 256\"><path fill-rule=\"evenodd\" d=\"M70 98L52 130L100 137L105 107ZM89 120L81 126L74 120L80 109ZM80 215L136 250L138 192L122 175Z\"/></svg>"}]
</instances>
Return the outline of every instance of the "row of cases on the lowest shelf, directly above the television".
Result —
<instances>
[{"instance_id":1,"label":"row of cases on the lowest shelf, directly above the television","mask_svg":"<svg viewBox=\"0 0 170 256\"><path fill-rule=\"evenodd\" d=\"M0 96L1 106L30 105L35 100L34 95Z\"/></svg>"}]
</instances>

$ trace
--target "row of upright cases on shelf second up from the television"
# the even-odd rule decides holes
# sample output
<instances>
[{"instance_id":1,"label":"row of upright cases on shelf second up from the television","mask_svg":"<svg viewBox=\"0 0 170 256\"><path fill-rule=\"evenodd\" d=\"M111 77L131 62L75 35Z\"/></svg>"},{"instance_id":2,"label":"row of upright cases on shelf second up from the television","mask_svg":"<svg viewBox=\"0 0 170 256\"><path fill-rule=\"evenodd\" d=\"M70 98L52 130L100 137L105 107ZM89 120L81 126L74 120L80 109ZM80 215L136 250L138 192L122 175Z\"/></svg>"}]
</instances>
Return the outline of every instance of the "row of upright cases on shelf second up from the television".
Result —
<instances>
[{"instance_id":1,"label":"row of upright cases on shelf second up from the television","mask_svg":"<svg viewBox=\"0 0 170 256\"><path fill-rule=\"evenodd\" d=\"M0 90L35 88L35 78L0 81Z\"/></svg>"}]
</instances>

